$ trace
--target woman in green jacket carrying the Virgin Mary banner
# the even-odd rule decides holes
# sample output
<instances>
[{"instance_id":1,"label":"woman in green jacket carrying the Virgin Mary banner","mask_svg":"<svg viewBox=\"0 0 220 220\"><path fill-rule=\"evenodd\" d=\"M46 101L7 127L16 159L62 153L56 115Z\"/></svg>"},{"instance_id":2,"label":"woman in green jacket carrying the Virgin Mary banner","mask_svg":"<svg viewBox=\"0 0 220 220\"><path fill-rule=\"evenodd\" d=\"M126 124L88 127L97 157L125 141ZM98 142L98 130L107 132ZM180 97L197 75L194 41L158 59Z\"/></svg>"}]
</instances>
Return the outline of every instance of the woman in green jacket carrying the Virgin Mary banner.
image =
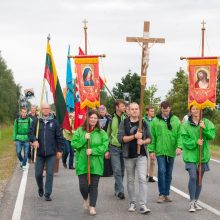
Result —
<instances>
[{"instance_id":1,"label":"woman in green jacket carrying the Virgin Mary banner","mask_svg":"<svg viewBox=\"0 0 220 220\"><path fill-rule=\"evenodd\" d=\"M76 150L76 174L79 178L79 188L84 199L83 206L89 209L91 215L96 214L96 201L98 196L98 183L104 171L104 154L108 149L109 138L107 133L100 128L98 112L91 110L87 122L78 128L72 138L71 145ZM90 148L87 148L87 141ZM90 156L91 183L88 185L88 158ZM89 203L88 203L89 196Z\"/></svg>"}]
</instances>

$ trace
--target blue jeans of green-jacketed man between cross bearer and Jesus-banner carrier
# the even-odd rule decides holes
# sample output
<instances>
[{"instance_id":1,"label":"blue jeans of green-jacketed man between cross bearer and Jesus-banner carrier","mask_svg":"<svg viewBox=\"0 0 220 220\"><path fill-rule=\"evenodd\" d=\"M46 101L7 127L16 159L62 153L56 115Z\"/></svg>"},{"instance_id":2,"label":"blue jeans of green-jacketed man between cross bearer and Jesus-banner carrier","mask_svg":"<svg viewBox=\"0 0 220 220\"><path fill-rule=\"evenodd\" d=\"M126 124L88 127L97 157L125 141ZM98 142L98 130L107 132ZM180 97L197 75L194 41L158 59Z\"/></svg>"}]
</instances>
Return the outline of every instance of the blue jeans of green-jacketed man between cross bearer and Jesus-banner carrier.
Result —
<instances>
[{"instance_id":1,"label":"blue jeans of green-jacketed man between cross bearer and Jesus-banner carrier","mask_svg":"<svg viewBox=\"0 0 220 220\"><path fill-rule=\"evenodd\" d=\"M168 196L172 180L174 157L157 156L159 195Z\"/></svg>"}]
</instances>

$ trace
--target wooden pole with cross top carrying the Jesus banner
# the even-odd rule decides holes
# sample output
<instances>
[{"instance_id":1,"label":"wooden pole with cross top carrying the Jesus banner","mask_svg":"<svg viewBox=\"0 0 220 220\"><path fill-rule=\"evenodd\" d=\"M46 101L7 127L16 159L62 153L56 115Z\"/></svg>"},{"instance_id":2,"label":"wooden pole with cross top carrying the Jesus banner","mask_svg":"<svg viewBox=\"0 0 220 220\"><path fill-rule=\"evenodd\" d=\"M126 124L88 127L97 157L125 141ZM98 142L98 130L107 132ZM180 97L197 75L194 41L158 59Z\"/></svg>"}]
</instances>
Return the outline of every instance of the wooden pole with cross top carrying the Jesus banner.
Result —
<instances>
[{"instance_id":1,"label":"wooden pole with cross top carrying the Jesus banner","mask_svg":"<svg viewBox=\"0 0 220 220\"><path fill-rule=\"evenodd\" d=\"M204 36L205 36L205 22L203 21L202 23L202 53L201 56L204 57ZM199 115L199 121L202 121L202 115L203 115L203 110L201 108L200 110L200 115ZM203 128L200 127L200 135L199 139L202 139L202 131ZM202 145L199 145L199 186L202 185Z\"/></svg>"}]
</instances>

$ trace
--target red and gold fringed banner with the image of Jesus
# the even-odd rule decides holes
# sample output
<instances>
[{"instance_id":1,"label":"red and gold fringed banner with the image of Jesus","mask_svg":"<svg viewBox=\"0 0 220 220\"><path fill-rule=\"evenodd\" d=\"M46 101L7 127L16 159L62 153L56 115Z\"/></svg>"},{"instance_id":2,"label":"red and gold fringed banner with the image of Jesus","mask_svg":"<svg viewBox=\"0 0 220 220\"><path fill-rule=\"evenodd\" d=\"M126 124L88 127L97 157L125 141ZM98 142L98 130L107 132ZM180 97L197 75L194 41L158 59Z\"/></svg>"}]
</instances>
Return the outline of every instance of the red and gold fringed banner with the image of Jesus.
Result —
<instances>
[{"instance_id":1,"label":"red and gold fringed banner with the image of Jesus","mask_svg":"<svg viewBox=\"0 0 220 220\"><path fill-rule=\"evenodd\" d=\"M217 57L188 58L188 71L188 107L195 105L198 109L215 108L218 73Z\"/></svg>"}]
</instances>

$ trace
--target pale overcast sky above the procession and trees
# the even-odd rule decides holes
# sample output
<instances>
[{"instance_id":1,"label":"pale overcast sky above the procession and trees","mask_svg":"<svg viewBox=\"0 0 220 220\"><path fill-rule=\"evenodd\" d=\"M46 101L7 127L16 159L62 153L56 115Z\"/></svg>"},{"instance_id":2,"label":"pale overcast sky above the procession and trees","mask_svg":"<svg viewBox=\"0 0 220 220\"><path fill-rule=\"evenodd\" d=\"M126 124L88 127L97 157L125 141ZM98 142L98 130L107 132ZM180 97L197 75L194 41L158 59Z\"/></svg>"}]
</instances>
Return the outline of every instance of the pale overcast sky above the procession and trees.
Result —
<instances>
[{"instance_id":1,"label":"pale overcast sky above the procession and trees","mask_svg":"<svg viewBox=\"0 0 220 220\"><path fill-rule=\"evenodd\" d=\"M163 37L165 44L150 50L148 85L157 84L165 97L170 81L186 61L180 56L201 55L201 22L206 22L205 55L220 54L219 0L0 0L0 50L16 83L34 88L39 104L46 56L46 37L61 86L65 86L68 45L71 54L84 48L83 23L88 20L89 54L107 55L100 75L112 88L121 77L140 74L141 47L127 43L127 36L142 36L150 21L150 37ZM0 91L1 92L1 91ZM128 91L129 92L129 91Z\"/></svg>"}]
</instances>

